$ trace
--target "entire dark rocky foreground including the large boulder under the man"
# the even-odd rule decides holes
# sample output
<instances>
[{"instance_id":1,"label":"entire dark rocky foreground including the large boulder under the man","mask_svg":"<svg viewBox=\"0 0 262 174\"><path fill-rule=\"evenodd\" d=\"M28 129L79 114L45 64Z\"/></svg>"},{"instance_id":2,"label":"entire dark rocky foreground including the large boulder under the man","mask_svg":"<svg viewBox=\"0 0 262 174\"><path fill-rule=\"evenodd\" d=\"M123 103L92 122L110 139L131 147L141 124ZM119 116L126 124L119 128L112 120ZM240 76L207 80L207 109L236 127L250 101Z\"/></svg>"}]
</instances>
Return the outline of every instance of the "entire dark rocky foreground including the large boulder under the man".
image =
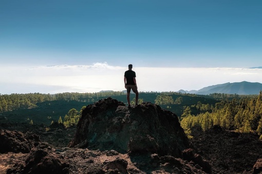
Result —
<instances>
[{"instance_id":1,"label":"entire dark rocky foreground including the large boulder under the man","mask_svg":"<svg viewBox=\"0 0 262 174\"><path fill-rule=\"evenodd\" d=\"M188 140L177 116L152 103L127 107L103 99L86 107L77 128L18 123L0 128L0 173L262 171L258 137L214 128Z\"/></svg>"}]
</instances>

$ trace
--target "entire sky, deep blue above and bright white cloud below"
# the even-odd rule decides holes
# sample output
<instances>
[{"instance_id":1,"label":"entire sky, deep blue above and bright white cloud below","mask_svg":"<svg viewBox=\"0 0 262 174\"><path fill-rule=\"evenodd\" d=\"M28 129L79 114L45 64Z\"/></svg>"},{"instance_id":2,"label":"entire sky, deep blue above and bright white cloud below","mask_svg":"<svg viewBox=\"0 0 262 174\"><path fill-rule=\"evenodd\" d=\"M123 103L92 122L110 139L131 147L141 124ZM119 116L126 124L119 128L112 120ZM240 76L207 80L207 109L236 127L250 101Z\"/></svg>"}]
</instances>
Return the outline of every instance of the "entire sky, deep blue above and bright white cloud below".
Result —
<instances>
[{"instance_id":1,"label":"entire sky, deep blue above and bright white cloud below","mask_svg":"<svg viewBox=\"0 0 262 174\"><path fill-rule=\"evenodd\" d=\"M0 1L0 94L260 82L262 1Z\"/></svg>"}]
</instances>

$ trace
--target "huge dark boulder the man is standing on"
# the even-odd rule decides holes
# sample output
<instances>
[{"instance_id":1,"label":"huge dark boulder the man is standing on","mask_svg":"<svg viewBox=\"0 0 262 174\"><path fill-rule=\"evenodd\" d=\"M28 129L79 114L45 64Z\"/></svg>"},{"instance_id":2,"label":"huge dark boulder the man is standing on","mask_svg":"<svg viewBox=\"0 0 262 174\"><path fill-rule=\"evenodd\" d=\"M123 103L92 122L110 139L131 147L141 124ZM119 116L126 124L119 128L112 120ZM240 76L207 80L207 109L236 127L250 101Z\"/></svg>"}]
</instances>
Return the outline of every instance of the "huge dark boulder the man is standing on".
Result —
<instances>
[{"instance_id":1,"label":"huge dark boulder the man is standing on","mask_svg":"<svg viewBox=\"0 0 262 174\"><path fill-rule=\"evenodd\" d=\"M149 102L127 107L109 97L85 108L69 147L181 157L189 143L174 113Z\"/></svg>"}]
</instances>

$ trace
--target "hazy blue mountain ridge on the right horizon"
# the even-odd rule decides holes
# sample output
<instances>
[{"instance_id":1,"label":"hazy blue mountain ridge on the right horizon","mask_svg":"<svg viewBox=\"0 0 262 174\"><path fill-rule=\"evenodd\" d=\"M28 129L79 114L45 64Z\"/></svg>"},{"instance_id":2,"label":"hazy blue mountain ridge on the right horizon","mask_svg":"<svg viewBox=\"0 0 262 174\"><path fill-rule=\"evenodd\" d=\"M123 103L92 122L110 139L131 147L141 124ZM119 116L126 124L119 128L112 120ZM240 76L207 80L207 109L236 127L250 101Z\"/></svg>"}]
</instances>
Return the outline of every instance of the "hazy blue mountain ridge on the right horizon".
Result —
<instances>
[{"instance_id":1,"label":"hazy blue mountain ridge on the right horizon","mask_svg":"<svg viewBox=\"0 0 262 174\"><path fill-rule=\"evenodd\" d=\"M199 95L208 95L213 93L251 95L251 94L259 94L260 90L262 90L262 83L242 81L242 82L234 82L234 83L228 82L223 84L207 86L198 91L179 90L178 92L192 93L192 94L199 94Z\"/></svg>"}]
</instances>

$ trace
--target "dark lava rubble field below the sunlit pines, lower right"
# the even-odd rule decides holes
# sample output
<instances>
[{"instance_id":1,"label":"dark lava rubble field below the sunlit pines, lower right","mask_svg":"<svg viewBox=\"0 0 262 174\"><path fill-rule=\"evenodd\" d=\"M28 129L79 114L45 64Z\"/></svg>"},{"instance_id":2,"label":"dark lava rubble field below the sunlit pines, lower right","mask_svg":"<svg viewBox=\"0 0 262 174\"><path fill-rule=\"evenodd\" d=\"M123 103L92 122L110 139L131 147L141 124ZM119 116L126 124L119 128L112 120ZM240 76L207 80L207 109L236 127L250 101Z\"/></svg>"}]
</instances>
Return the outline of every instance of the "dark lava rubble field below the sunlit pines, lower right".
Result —
<instances>
[{"instance_id":1,"label":"dark lava rubble field below the sunlit pines, lower right","mask_svg":"<svg viewBox=\"0 0 262 174\"><path fill-rule=\"evenodd\" d=\"M205 132L192 132L191 144L212 166L213 173L252 173L262 158L262 141L257 134L221 130L214 126Z\"/></svg>"}]
</instances>

